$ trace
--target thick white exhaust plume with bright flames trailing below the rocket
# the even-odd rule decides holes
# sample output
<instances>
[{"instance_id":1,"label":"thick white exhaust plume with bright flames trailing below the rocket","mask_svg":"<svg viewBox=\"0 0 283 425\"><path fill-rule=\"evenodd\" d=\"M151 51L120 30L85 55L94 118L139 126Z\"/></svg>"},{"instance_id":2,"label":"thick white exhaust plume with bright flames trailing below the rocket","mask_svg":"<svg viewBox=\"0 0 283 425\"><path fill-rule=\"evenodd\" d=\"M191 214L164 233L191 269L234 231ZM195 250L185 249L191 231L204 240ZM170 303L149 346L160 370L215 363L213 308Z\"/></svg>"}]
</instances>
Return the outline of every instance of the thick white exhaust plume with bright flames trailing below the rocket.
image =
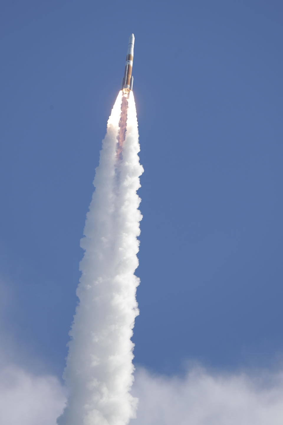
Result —
<instances>
[{"instance_id":1,"label":"thick white exhaust plume with bright flames trailing below the rocket","mask_svg":"<svg viewBox=\"0 0 283 425\"><path fill-rule=\"evenodd\" d=\"M59 425L126 425L135 417L137 399L129 391L142 218L139 150L134 95L120 91L107 123L81 239L79 303L64 371L69 397Z\"/></svg>"}]
</instances>

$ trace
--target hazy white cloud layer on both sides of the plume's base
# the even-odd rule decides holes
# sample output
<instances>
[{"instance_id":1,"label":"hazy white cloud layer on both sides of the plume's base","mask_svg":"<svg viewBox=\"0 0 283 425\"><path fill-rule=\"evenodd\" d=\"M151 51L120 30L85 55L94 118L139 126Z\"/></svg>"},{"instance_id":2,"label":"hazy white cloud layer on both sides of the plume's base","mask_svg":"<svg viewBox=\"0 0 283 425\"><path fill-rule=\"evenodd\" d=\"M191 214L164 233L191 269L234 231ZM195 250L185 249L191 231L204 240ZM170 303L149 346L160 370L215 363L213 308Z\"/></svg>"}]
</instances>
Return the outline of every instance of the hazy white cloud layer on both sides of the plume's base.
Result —
<instances>
[{"instance_id":1,"label":"hazy white cloud layer on both sides of the plume's base","mask_svg":"<svg viewBox=\"0 0 283 425\"><path fill-rule=\"evenodd\" d=\"M282 424L282 371L211 374L196 367L185 377L166 377L137 370L132 391L139 409L131 425ZM0 365L0 424L55 424L64 402L56 377Z\"/></svg>"}]
</instances>

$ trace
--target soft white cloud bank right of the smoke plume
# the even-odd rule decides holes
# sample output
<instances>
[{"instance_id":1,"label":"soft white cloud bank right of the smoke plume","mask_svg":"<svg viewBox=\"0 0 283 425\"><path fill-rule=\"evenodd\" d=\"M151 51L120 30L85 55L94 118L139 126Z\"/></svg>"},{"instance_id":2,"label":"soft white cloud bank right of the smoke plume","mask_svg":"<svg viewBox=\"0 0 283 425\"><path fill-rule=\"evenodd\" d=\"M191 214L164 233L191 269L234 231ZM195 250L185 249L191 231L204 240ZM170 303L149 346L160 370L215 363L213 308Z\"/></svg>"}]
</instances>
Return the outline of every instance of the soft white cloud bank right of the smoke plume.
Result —
<instances>
[{"instance_id":1,"label":"soft white cloud bank right of the smoke plume","mask_svg":"<svg viewBox=\"0 0 283 425\"><path fill-rule=\"evenodd\" d=\"M283 372L212 374L195 367L185 377L136 374L139 397L132 425L281 425Z\"/></svg>"}]
</instances>

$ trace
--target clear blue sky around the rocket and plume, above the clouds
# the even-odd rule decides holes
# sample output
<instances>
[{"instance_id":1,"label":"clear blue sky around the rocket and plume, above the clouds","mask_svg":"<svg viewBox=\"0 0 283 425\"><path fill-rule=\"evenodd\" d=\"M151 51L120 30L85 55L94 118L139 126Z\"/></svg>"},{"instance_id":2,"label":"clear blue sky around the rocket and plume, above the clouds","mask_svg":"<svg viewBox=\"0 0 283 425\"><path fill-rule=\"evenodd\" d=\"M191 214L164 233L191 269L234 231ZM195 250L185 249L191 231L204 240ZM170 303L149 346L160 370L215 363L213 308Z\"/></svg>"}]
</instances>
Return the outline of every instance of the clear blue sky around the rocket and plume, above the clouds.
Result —
<instances>
[{"instance_id":1,"label":"clear blue sky around the rocket and plume, above the clouds","mask_svg":"<svg viewBox=\"0 0 283 425\"><path fill-rule=\"evenodd\" d=\"M282 360L281 1L2 3L2 356L61 377L106 122L135 35L135 364ZM4 348L3 348L4 347Z\"/></svg>"}]
</instances>

